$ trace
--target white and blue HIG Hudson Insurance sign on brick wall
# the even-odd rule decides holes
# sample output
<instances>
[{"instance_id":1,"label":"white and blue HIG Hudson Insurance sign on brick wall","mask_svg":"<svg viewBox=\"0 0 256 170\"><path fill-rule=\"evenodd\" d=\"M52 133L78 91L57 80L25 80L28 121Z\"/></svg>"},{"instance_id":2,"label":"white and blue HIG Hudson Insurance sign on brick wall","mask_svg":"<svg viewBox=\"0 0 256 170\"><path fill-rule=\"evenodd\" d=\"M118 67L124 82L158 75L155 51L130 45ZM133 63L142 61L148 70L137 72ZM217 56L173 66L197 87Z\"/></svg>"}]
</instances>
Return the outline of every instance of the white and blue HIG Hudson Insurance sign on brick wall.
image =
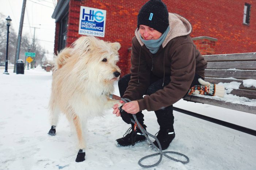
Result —
<instances>
[{"instance_id":1,"label":"white and blue HIG Hudson Insurance sign on brick wall","mask_svg":"<svg viewBox=\"0 0 256 170\"><path fill-rule=\"evenodd\" d=\"M81 6L79 34L104 37L105 24L106 10Z\"/></svg>"}]
</instances>

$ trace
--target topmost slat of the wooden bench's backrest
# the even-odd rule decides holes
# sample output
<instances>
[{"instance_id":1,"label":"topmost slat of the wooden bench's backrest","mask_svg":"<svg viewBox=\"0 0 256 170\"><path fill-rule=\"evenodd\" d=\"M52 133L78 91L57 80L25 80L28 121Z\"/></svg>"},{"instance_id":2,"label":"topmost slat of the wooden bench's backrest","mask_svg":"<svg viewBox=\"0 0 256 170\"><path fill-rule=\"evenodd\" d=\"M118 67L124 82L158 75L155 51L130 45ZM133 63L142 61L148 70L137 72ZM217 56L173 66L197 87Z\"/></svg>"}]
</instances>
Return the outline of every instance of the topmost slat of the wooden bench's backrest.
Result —
<instances>
[{"instance_id":1,"label":"topmost slat of the wooden bench's backrest","mask_svg":"<svg viewBox=\"0 0 256 170\"><path fill-rule=\"evenodd\" d=\"M243 53L243 54L221 54L221 55L204 55L207 62L220 62L220 61L255 61L256 52Z\"/></svg>"}]
</instances>

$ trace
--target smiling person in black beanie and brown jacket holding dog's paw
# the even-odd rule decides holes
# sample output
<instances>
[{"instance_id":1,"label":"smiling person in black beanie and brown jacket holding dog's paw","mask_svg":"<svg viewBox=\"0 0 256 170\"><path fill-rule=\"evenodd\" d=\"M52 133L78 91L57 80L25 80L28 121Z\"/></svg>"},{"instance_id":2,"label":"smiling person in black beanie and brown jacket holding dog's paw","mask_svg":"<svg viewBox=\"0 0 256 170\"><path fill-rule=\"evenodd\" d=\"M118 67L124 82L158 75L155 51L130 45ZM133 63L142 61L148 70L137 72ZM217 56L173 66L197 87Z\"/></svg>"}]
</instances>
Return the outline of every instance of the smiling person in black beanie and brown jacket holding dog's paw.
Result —
<instances>
[{"instance_id":1,"label":"smiling person in black beanie and brown jacket holding dog's paw","mask_svg":"<svg viewBox=\"0 0 256 170\"><path fill-rule=\"evenodd\" d=\"M155 112L160 126L156 137L163 150L175 138L172 104L186 95L190 87L199 84L198 78L204 79L205 75L207 62L196 50L191 31L190 22L180 15L168 13L161 0L145 3L138 14L132 39L131 74L118 82L121 97L132 100L122 109L136 114L144 128L142 110ZM117 105L113 114L120 115ZM134 145L146 139L134 124L130 130L116 140L118 145ZM158 146L156 141L154 144Z\"/></svg>"}]
</instances>

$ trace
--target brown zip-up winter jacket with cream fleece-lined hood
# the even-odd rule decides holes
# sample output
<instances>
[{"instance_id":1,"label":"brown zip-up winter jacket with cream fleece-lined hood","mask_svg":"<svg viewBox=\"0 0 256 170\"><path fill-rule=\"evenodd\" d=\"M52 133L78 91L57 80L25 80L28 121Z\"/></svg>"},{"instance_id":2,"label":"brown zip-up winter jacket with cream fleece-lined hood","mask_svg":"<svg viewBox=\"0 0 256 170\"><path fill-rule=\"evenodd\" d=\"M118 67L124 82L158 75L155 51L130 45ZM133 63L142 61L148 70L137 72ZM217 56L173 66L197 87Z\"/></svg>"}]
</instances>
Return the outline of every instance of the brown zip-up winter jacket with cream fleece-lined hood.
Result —
<instances>
[{"instance_id":1,"label":"brown zip-up winter jacket with cream fleece-lined hood","mask_svg":"<svg viewBox=\"0 0 256 170\"><path fill-rule=\"evenodd\" d=\"M207 62L189 36L192 31L189 21L169 13L169 27L156 54L142 43L138 28L135 31L131 47L131 80L123 98L137 100L140 111L155 111L176 103L190 88L195 73L205 77ZM151 73L159 78L170 76L171 82L143 98L150 85Z\"/></svg>"}]
</instances>

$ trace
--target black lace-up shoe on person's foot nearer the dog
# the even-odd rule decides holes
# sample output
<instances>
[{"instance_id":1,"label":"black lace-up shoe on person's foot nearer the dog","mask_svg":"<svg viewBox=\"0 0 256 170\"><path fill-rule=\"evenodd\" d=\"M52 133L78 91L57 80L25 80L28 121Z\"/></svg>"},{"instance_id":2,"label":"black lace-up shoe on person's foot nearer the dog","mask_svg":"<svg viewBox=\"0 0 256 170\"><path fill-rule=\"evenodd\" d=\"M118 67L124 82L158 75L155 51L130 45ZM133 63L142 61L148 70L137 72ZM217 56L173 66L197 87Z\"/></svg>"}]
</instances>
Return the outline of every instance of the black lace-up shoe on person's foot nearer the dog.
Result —
<instances>
[{"instance_id":1,"label":"black lace-up shoe on person's foot nearer the dog","mask_svg":"<svg viewBox=\"0 0 256 170\"><path fill-rule=\"evenodd\" d=\"M144 127L144 129L145 128L146 127ZM141 133L140 129L137 129L137 127L135 127L135 130L134 130L132 127L130 127L126 131L126 133L123 135L123 138L116 139L116 142L119 146L130 146L130 145L134 146L135 143L142 142L145 140L146 140L146 137Z\"/></svg>"}]
</instances>

